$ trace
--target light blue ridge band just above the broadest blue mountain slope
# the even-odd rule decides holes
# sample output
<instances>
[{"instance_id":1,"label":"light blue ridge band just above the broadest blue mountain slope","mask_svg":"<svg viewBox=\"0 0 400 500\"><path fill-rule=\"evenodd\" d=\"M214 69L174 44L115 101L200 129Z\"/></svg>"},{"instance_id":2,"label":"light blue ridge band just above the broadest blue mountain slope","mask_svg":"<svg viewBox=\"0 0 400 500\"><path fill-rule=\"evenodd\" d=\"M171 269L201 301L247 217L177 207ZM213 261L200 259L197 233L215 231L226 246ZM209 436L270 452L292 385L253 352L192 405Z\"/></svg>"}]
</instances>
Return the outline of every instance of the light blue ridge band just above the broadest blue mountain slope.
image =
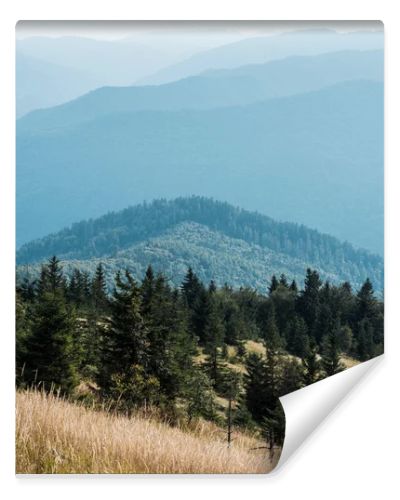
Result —
<instances>
[{"instance_id":1,"label":"light blue ridge band just above the broadest blue mountain slope","mask_svg":"<svg viewBox=\"0 0 400 500\"><path fill-rule=\"evenodd\" d=\"M140 110L207 109L300 94L339 82L383 81L383 52L346 51L291 57L267 64L210 71L160 86L103 87L72 102L31 113L19 130L48 130Z\"/></svg>"}]
</instances>

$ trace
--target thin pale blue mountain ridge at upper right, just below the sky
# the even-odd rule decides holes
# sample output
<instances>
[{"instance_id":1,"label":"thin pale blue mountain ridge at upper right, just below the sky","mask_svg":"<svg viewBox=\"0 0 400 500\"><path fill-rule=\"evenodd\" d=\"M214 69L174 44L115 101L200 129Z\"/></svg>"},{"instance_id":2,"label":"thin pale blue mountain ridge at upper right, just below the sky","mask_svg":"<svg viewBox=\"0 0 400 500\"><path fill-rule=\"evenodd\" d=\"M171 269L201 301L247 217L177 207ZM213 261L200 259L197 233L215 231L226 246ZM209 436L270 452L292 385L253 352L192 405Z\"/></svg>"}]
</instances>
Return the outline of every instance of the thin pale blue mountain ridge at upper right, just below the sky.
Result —
<instances>
[{"instance_id":1,"label":"thin pale blue mountain ridge at upper right, just below the sky","mask_svg":"<svg viewBox=\"0 0 400 500\"><path fill-rule=\"evenodd\" d=\"M153 75L139 79L137 83L160 85L210 69L260 64L294 55L383 49L383 43L383 31L338 33L333 30L303 30L255 37L200 52Z\"/></svg>"}]
</instances>

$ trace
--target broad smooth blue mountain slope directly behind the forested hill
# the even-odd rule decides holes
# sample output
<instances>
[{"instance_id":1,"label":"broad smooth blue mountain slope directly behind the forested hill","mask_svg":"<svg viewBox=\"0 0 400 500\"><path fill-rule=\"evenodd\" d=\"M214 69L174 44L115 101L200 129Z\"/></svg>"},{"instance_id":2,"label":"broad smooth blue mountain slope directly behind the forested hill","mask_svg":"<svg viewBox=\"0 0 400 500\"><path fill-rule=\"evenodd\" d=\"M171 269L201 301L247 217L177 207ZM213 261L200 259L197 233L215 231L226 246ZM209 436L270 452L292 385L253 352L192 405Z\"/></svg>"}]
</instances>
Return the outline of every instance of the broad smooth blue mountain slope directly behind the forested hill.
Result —
<instances>
[{"instance_id":1,"label":"broad smooth blue mountain slope directly behind the forested hill","mask_svg":"<svg viewBox=\"0 0 400 500\"><path fill-rule=\"evenodd\" d=\"M17 131L18 244L144 199L225 199L381 252L383 88Z\"/></svg>"}]
</instances>

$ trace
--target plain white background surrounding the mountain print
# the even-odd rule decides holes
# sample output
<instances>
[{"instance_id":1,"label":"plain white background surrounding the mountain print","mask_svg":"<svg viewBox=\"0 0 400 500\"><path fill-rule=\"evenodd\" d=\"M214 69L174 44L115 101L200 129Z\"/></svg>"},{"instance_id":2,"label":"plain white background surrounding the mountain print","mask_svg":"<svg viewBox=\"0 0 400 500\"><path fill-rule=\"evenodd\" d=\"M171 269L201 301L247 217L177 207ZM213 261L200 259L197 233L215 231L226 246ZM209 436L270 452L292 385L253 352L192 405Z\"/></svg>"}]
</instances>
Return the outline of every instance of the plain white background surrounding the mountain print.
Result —
<instances>
[{"instance_id":1,"label":"plain white background surrounding the mountain print","mask_svg":"<svg viewBox=\"0 0 400 500\"><path fill-rule=\"evenodd\" d=\"M0 479L2 498L400 498L399 49L395 1L5 1L1 3ZM382 20L385 24L386 355L289 462L269 476L14 476L14 28L19 19ZM395 284L397 283L397 289Z\"/></svg>"}]
</instances>

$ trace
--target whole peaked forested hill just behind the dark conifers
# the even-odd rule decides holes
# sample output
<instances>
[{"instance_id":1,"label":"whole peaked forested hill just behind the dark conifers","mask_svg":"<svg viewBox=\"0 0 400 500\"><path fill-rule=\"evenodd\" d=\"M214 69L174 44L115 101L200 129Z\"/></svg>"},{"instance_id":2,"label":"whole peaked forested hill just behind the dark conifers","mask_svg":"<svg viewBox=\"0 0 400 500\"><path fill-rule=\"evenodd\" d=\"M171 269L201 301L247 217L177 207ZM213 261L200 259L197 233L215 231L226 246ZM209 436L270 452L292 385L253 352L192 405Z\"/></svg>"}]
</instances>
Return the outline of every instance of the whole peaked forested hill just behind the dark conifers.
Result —
<instances>
[{"instance_id":1,"label":"whole peaked forested hill just behind the dark conifers","mask_svg":"<svg viewBox=\"0 0 400 500\"><path fill-rule=\"evenodd\" d=\"M197 263L202 269L195 270L203 279L218 274L222 284L224 278L232 282L234 276L255 272L252 283L236 282L252 286L261 276L266 280L284 270L296 278L311 266L332 281L350 281L358 287L368 277L378 292L383 290L381 257L303 225L195 196L156 200L75 223L23 245L17 264L41 262L52 255L64 261L108 259L111 268L131 260L137 271L150 263L165 271L173 259L181 267ZM222 276L224 272L229 276Z\"/></svg>"}]
</instances>

